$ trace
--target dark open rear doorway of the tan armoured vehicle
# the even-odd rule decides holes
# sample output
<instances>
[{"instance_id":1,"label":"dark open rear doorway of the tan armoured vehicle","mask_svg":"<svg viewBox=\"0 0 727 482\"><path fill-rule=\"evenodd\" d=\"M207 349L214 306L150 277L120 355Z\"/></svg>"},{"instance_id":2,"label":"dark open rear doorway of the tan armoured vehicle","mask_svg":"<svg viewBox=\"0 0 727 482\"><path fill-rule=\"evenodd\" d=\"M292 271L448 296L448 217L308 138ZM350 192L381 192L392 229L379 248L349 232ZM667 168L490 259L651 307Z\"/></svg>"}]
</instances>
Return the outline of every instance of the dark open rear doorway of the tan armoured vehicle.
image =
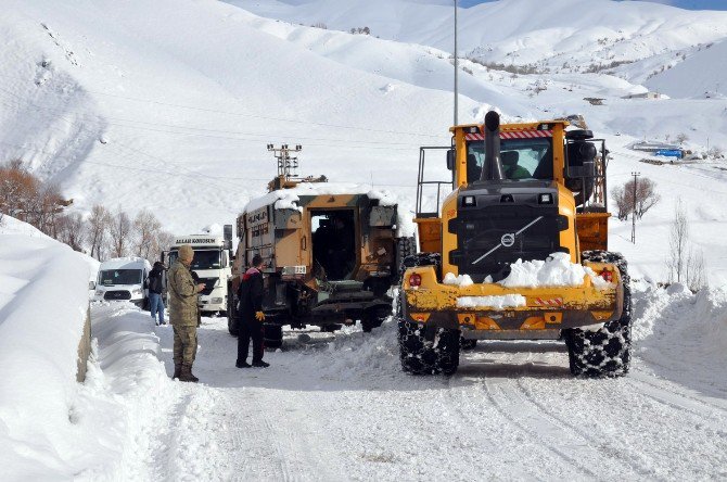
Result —
<instances>
[{"instance_id":1,"label":"dark open rear doorway of the tan armoured vehicle","mask_svg":"<svg viewBox=\"0 0 727 482\"><path fill-rule=\"evenodd\" d=\"M328 281L350 279L356 267L354 210L316 210L310 213L314 271Z\"/></svg>"}]
</instances>

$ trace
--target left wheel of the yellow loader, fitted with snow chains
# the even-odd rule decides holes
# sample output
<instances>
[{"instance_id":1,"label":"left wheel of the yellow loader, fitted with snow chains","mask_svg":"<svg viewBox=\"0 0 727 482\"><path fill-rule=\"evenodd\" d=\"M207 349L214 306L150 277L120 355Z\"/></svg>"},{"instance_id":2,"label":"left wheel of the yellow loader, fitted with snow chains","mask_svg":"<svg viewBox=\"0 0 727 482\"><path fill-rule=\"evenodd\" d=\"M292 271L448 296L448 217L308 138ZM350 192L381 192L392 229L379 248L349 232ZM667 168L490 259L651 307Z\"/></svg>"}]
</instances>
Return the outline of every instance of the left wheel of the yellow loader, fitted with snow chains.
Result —
<instances>
[{"instance_id":1,"label":"left wheel of the yellow loader, fitted with snow chains","mask_svg":"<svg viewBox=\"0 0 727 482\"><path fill-rule=\"evenodd\" d=\"M438 328L426 340L424 326L399 319L399 358L411 375L452 375L459 366L459 330Z\"/></svg>"}]
</instances>

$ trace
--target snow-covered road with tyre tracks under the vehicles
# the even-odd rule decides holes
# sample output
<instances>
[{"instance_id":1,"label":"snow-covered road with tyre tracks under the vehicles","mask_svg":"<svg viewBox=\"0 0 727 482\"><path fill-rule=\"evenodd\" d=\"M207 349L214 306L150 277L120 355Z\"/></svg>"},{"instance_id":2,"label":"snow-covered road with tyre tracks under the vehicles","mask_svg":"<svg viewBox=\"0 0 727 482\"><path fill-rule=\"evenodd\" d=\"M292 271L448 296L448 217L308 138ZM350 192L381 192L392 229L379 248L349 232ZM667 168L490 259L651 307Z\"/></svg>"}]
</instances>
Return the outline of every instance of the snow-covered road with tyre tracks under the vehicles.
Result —
<instances>
[{"instance_id":1,"label":"snow-covered road with tyre tracks under the vehicles","mask_svg":"<svg viewBox=\"0 0 727 482\"><path fill-rule=\"evenodd\" d=\"M171 330L157 328L167 371ZM571 377L551 342L492 342L451 378L400 372L388 324L289 333L269 369L234 368L226 319L205 319L154 472L204 480L704 480L727 477L724 386L637 357L615 380ZM638 352L638 350L637 350ZM653 351L646 351L653 354ZM671 381L676 380L676 381ZM723 379L724 380L724 379ZM177 385L177 384L175 384Z\"/></svg>"}]
</instances>

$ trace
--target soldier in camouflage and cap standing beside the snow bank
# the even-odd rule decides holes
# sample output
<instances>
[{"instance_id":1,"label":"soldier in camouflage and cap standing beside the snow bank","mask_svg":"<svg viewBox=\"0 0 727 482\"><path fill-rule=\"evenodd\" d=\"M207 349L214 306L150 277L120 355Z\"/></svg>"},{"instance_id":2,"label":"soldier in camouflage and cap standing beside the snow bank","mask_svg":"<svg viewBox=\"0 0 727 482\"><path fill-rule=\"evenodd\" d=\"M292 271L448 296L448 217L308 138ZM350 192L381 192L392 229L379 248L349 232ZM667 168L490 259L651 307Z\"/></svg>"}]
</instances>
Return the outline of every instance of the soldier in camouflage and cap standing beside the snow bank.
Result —
<instances>
[{"instance_id":1,"label":"soldier in camouflage and cap standing beside the snow bank","mask_svg":"<svg viewBox=\"0 0 727 482\"><path fill-rule=\"evenodd\" d=\"M169 321L175 330L175 373L180 381L200 381L192 373L192 364L196 355L197 293L204 290L204 283L195 284L189 267L194 251L189 244L179 246L179 258L169 268Z\"/></svg>"}]
</instances>

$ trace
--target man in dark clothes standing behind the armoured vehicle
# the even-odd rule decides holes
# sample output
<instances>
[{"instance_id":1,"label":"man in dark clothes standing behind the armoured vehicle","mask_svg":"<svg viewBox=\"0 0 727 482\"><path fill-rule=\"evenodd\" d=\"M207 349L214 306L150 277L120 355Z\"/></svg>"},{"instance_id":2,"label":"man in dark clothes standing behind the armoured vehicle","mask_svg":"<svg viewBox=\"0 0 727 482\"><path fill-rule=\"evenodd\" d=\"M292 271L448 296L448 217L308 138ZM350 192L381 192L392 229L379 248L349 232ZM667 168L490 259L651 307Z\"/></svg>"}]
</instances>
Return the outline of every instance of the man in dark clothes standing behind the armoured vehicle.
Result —
<instances>
[{"instance_id":1,"label":"man in dark clothes standing behind the armoured vehicle","mask_svg":"<svg viewBox=\"0 0 727 482\"><path fill-rule=\"evenodd\" d=\"M265 313L263 313L263 297L265 295L263 286L263 256L253 256L253 267L242 276L238 297L240 306L238 309L238 322L240 330L238 334L238 368L248 368L247 348L250 339L253 339L253 367L266 368L270 365L263 362L265 346L263 345Z\"/></svg>"}]
</instances>

